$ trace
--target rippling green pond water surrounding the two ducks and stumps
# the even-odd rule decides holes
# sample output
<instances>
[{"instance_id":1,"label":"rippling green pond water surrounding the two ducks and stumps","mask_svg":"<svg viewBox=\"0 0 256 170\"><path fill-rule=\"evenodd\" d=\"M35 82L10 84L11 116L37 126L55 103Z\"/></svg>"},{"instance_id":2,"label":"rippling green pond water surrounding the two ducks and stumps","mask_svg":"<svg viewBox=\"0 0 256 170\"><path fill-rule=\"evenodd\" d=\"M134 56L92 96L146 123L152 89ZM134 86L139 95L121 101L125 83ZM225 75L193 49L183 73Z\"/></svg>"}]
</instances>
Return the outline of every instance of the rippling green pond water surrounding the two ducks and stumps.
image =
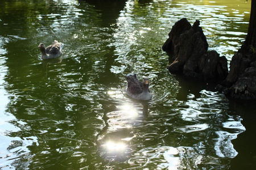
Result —
<instances>
[{"instance_id":1,"label":"rippling green pond water surrounding the two ducks and stumps","mask_svg":"<svg viewBox=\"0 0 256 170\"><path fill-rule=\"evenodd\" d=\"M166 70L181 18L231 60L250 3L170 0L0 2L0 169L253 169L255 104ZM38 45L63 42L42 61ZM150 101L126 95L148 76Z\"/></svg>"}]
</instances>

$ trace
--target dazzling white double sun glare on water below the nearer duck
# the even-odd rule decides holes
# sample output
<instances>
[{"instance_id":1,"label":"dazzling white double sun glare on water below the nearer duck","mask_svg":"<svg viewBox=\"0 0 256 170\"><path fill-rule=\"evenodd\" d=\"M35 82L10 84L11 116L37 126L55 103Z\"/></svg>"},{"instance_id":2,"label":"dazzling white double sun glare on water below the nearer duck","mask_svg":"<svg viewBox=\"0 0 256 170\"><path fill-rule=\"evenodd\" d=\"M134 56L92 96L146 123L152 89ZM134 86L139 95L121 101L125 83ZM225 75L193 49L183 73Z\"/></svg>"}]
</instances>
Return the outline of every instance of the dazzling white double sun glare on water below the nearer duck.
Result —
<instances>
[{"instance_id":1,"label":"dazzling white double sun glare on water below the nearer duck","mask_svg":"<svg viewBox=\"0 0 256 170\"><path fill-rule=\"evenodd\" d=\"M110 162L124 162L130 155L130 142L135 137L133 124L138 113L129 104L123 104L114 110L116 111L106 113L106 126L98 135L99 154Z\"/></svg>"}]
</instances>

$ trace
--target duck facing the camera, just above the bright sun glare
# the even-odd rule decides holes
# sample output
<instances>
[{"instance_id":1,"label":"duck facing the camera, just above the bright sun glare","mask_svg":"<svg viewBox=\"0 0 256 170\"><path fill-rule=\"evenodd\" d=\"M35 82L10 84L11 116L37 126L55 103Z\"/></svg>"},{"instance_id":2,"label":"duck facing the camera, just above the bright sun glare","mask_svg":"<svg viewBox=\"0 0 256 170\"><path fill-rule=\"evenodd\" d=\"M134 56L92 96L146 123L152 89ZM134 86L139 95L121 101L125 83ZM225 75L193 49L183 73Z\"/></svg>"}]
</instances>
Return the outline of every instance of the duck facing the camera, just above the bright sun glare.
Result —
<instances>
[{"instance_id":1,"label":"duck facing the camera, just above the bright sun glare","mask_svg":"<svg viewBox=\"0 0 256 170\"><path fill-rule=\"evenodd\" d=\"M127 95L137 100L151 100L152 93L149 89L149 79L146 77L143 82L137 79L136 74L127 74Z\"/></svg>"}]
</instances>

